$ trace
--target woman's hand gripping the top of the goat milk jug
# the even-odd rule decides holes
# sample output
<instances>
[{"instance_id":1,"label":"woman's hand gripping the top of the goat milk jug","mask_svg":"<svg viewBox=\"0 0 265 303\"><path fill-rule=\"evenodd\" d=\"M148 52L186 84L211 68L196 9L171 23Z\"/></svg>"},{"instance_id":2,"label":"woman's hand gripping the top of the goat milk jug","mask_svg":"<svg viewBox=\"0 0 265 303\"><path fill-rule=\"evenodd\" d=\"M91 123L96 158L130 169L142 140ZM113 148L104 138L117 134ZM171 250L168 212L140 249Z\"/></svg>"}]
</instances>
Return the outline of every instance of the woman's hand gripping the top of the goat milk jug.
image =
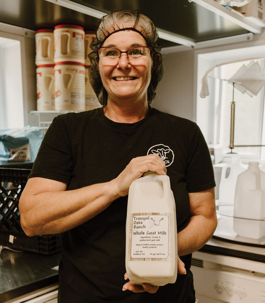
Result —
<instances>
[{"instance_id":1,"label":"woman's hand gripping the top of the goat milk jug","mask_svg":"<svg viewBox=\"0 0 265 303\"><path fill-rule=\"evenodd\" d=\"M133 158L119 176L113 180L117 195L119 197L128 195L131 183L140 178L146 171L155 171L158 175L166 175L165 162L157 154Z\"/></svg>"}]
</instances>

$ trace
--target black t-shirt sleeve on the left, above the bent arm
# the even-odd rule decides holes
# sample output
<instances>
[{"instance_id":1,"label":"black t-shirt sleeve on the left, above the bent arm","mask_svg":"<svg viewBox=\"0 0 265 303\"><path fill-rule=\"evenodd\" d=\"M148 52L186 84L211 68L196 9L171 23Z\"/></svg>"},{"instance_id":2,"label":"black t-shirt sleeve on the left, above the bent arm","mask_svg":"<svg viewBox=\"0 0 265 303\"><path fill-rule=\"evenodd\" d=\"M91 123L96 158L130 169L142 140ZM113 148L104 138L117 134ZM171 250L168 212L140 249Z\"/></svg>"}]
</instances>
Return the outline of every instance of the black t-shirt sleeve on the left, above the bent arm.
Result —
<instances>
[{"instance_id":1,"label":"black t-shirt sleeve on the left, above the bent arm","mask_svg":"<svg viewBox=\"0 0 265 303\"><path fill-rule=\"evenodd\" d=\"M49 126L28 178L42 177L69 183L72 176L72 148L65 121L57 116Z\"/></svg>"}]
</instances>

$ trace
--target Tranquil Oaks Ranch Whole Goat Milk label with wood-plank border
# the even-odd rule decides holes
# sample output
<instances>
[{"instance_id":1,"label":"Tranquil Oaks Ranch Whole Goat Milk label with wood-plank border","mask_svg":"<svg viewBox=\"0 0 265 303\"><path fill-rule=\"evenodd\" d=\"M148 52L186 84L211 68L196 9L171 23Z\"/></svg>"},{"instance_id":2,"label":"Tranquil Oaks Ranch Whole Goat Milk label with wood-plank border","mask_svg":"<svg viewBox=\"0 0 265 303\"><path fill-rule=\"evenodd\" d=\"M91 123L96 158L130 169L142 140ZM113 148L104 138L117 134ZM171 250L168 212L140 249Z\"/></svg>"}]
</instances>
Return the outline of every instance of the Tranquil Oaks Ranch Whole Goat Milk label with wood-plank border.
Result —
<instances>
[{"instance_id":1,"label":"Tranquil Oaks Ranch Whole Goat Milk label with wood-plank border","mask_svg":"<svg viewBox=\"0 0 265 303\"><path fill-rule=\"evenodd\" d=\"M130 261L171 261L171 212L132 213Z\"/></svg>"}]
</instances>

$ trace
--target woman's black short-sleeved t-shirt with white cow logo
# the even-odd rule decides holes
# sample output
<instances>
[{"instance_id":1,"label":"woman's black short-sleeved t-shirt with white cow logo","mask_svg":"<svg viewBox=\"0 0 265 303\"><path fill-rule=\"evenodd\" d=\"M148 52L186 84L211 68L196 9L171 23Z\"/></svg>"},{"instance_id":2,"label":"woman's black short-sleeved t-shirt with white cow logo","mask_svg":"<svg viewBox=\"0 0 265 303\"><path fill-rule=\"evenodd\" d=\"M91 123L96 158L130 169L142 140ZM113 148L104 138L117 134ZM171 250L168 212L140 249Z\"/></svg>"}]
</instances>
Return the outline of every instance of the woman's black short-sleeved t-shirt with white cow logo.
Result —
<instances>
[{"instance_id":1,"label":"woman's black short-sleeved t-shirt with white cow logo","mask_svg":"<svg viewBox=\"0 0 265 303\"><path fill-rule=\"evenodd\" d=\"M196 125L149 108L136 123L109 120L102 108L54 118L29 175L68 184L67 190L110 181L132 158L158 153L167 166L176 202L178 231L189 219L189 192L215 186L209 150ZM122 291L125 269L127 198L114 201L84 224L62 233L59 300L65 302L167 301L194 303L191 255L186 275L155 294Z\"/></svg>"}]
</instances>

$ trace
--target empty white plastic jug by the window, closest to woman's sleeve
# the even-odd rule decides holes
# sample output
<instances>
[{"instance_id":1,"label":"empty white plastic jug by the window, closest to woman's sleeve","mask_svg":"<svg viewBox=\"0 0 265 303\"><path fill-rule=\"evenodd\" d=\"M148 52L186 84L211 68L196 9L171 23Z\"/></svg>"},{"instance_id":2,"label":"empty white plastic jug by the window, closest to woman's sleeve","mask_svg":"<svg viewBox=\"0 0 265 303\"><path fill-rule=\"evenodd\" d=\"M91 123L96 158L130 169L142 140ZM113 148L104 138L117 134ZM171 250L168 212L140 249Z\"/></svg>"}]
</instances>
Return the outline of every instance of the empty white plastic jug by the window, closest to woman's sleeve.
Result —
<instances>
[{"instance_id":1,"label":"empty white plastic jug by the window, closest to woman's sleeve","mask_svg":"<svg viewBox=\"0 0 265 303\"><path fill-rule=\"evenodd\" d=\"M235 200L235 189L237 176L245 171L247 167L241 163L240 156L230 155L230 162L222 169L219 185L219 201L233 205Z\"/></svg>"}]
</instances>

